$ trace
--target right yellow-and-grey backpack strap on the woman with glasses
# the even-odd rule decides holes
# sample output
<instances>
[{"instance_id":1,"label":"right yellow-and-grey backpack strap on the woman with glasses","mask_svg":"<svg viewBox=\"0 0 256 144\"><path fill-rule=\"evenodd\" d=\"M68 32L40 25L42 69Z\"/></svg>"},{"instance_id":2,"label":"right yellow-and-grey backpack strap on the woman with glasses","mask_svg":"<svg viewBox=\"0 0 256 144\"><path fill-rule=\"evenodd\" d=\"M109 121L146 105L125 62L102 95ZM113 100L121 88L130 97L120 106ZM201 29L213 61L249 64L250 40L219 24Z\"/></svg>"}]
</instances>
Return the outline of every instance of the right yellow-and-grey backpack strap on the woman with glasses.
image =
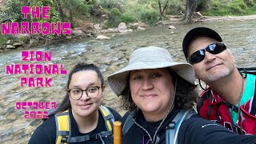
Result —
<instances>
[{"instance_id":1,"label":"right yellow-and-grey backpack strap on the woman with glasses","mask_svg":"<svg viewBox=\"0 0 256 144\"><path fill-rule=\"evenodd\" d=\"M114 115L110 112L110 110L106 106L99 106L99 110L102 113L102 116L104 118L106 129L108 131L112 131L112 128L114 126Z\"/></svg>"}]
</instances>

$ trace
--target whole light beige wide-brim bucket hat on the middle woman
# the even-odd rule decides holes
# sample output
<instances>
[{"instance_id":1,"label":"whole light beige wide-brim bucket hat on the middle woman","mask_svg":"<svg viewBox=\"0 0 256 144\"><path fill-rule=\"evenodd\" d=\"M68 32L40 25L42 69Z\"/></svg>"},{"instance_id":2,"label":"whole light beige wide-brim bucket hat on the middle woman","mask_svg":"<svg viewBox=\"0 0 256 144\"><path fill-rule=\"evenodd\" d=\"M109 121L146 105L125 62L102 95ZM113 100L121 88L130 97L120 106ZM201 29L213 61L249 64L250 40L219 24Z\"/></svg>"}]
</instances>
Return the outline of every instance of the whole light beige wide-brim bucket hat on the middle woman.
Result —
<instances>
[{"instance_id":1,"label":"whole light beige wide-brim bucket hat on the middle woman","mask_svg":"<svg viewBox=\"0 0 256 144\"><path fill-rule=\"evenodd\" d=\"M165 67L170 67L180 77L195 85L194 67L192 65L184 62L174 62L167 50L155 46L134 50L133 54L130 55L128 65L118 70L118 72L110 74L107 81L114 93L119 96L126 88L128 74L131 70L158 69Z\"/></svg>"}]
</instances>

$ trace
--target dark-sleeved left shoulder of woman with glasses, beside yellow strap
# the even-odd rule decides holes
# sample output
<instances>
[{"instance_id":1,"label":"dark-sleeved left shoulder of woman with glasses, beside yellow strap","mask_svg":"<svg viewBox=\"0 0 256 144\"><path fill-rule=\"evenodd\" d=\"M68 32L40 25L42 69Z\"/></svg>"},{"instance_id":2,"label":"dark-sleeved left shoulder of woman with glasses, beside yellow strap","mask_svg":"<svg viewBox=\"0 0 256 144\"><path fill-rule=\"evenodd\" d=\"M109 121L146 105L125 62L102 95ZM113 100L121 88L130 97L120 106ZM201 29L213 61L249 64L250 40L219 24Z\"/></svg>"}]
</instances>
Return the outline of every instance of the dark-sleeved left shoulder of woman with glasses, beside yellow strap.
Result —
<instances>
[{"instance_id":1,"label":"dark-sleeved left shoulder of woman with glasses, beside yellow strap","mask_svg":"<svg viewBox=\"0 0 256 144\"><path fill-rule=\"evenodd\" d=\"M29 144L48 144L54 143L56 138L56 126L55 117L51 116L45 122L42 122L40 126L32 134Z\"/></svg>"}]
</instances>

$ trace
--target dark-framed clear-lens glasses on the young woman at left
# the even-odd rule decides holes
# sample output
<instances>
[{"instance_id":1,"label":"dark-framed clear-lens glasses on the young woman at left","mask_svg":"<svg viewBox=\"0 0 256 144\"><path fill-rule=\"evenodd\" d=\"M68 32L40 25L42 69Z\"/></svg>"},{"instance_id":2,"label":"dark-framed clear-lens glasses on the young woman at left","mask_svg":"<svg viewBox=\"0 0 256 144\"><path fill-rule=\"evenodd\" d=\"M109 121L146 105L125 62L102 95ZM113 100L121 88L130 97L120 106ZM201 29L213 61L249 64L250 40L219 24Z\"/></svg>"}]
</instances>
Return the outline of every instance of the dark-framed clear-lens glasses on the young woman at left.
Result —
<instances>
[{"instance_id":1,"label":"dark-framed clear-lens glasses on the young woman at left","mask_svg":"<svg viewBox=\"0 0 256 144\"><path fill-rule=\"evenodd\" d=\"M84 91L86 92L86 95L89 98L96 98L98 96L100 88L101 88L101 86L90 86L86 90L82 90L80 88L74 88L74 89L70 89L67 91L70 94L70 98L72 98L74 100L78 100L78 99L82 98L82 94Z\"/></svg>"}]
</instances>

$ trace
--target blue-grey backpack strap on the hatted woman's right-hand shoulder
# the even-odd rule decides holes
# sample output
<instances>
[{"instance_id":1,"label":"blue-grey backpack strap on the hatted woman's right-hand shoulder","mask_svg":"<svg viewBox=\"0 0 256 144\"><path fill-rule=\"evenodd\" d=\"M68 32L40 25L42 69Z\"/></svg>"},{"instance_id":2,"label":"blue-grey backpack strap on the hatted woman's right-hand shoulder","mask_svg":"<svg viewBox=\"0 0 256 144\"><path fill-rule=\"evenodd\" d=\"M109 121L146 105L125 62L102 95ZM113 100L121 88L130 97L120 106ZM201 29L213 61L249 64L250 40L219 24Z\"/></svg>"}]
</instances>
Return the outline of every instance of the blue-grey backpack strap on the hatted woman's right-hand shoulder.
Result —
<instances>
[{"instance_id":1,"label":"blue-grey backpack strap on the hatted woman's right-hand shoulder","mask_svg":"<svg viewBox=\"0 0 256 144\"><path fill-rule=\"evenodd\" d=\"M174 117L173 122L166 128L166 144L177 144L178 142L178 130L182 125L182 122L192 115L196 114L194 110L180 110Z\"/></svg>"}]
</instances>

